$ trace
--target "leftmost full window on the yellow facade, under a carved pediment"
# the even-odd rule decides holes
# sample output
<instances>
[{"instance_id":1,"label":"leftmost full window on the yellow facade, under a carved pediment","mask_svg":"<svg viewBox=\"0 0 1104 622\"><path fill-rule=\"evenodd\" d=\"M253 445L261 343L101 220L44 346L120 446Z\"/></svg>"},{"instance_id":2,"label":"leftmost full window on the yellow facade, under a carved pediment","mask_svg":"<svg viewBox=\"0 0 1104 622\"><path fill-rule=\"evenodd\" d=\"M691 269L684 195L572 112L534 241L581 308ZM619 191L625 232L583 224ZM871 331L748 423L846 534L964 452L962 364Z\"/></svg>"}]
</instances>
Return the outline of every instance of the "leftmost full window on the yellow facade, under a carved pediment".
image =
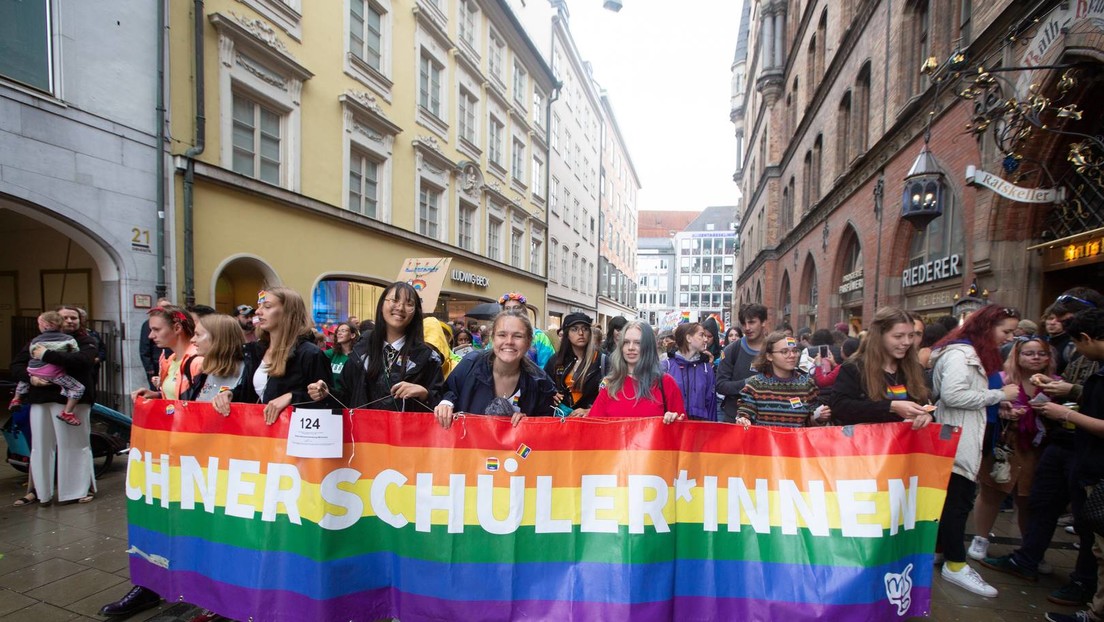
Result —
<instances>
[{"instance_id":1,"label":"leftmost full window on the yellow facade, under a carved pediment","mask_svg":"<svg viewBox=\"0 0 1104 622\"><path fill-rule=\"evenodd\" d=\"M280 114L234 93L234 172L280 185Z\"/></svg>"}]
</instances>

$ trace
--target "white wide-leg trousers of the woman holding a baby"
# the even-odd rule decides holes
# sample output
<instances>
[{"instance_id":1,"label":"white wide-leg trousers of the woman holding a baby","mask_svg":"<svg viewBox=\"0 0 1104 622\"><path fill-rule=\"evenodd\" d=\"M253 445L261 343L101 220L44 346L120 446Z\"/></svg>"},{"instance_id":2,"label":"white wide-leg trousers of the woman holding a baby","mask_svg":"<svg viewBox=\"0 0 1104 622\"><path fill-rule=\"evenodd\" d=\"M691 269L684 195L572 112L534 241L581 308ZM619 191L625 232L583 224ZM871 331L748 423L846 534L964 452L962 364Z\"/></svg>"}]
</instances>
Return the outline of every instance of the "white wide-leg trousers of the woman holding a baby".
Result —
<instances>
[{"instance_id":1,"label":"white wide-leg trousers of the woman holding a baby","mask_svg":"<svg viewBox=\"0 0 1104 622\"><path fill-rule=\"evenodd\" d=\"M57 500L78 499L96 489L93 474L92 407L78 404L74 414L81 425L57 419L65 404L31 405L31 473L39 500L54 498L54 456L57 456Z\"/></svg>"}]
</instances>

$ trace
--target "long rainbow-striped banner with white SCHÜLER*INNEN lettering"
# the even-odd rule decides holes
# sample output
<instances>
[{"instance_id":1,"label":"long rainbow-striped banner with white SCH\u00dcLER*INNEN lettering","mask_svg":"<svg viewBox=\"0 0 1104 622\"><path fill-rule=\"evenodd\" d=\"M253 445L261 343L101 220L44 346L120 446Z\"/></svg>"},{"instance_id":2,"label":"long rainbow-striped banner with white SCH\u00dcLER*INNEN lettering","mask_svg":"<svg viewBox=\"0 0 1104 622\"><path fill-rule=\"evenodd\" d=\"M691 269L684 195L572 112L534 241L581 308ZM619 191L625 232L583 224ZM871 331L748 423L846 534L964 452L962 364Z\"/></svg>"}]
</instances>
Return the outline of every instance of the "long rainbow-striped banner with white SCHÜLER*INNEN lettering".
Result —
<instances>
[{"instance_id":1,"label":"long rainbow-striped banner with white SCH\u00dcLER*INNEN lettering","mask_svg":"<svg viewBox=\"0 0 1104 622\"><path fill-rule=\"evenodd\" d=\"M256 622L928 613L949 428L332 417L297 458L287 413L139 400L134 582Z\"/></svg>"}]
</instances>

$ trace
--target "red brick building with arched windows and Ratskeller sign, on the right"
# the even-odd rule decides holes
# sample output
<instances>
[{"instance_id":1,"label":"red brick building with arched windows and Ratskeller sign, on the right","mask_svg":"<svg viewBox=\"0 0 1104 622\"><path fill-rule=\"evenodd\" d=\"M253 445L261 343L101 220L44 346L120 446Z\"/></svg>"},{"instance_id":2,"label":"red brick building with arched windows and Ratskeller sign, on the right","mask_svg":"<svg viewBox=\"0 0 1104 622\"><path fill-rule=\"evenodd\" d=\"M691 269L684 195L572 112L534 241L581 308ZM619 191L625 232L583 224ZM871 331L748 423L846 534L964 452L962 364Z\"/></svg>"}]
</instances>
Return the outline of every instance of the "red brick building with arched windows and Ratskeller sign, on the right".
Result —
<instances>
[{"instance_id":1,"label":"red brick building with arched windows and Ratskeller sign, on the right","mask_svg":"<svg viewBox=\"0 0 1104 622\"><path fill-rule=\"evenodd\" d=\"M972 283L977 297L1029 316L1068 286L1104 283L1104 178L1068 162L1083 137L1053 131L1102 133L1100 12L1057 1L750 1L731 113L745 205L736 305L760 302L771 321L795 328L860 327L885 305L951 313ZM955 52L965 57L962 80L947 64ZM930 57L934 77L920 71ZM995 74L1002 91L985 93L1001 98L960 97L977 65L1012 70ZM1040 65L1063 66L1030 68ZM1065 65L1078 74L1063 92ZM1049 98L1040 115L1052 119L1047 129L1031 127L1019 141L992 126L969 130L985 106L1040 94ZM1070 104L1081 120L1054 116ZM902 196L928 129L945 202L943 215L917 230L901 217ZM1086 149L1104 161L1104 149ZM1019 158L1006 169L1009 150ZM994 173L1006 192L1027 189L1018 199L1065 188L1066 201L1005 199L967 185L970 166Z\"/></svg>"}]
</instances>

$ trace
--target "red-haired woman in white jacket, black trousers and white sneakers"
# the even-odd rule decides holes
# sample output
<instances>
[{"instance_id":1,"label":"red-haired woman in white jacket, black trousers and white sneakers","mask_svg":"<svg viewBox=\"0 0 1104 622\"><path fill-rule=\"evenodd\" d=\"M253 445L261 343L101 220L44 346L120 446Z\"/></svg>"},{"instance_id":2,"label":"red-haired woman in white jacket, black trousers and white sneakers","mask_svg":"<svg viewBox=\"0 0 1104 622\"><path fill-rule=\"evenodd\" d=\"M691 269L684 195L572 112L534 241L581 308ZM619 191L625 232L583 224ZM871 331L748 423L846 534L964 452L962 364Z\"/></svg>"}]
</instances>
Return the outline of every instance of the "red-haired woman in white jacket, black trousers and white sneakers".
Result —
<instances>
[{"instance_id":1,"label":"red-haired woman in white jacket, black trousers and white sneakers","mask_svg":"<svg viewBox=\"0 0 1104 622\"><path fill-rule=\"evenodd\" d=\"M1006 384L1000 345L1012 338L1020 321L1016 309L987 305L973 313L932 349L932 381L938 396L940 422L962 430L955 452L947 498L940 518L938 547L944 559L942 576L949 583L983 597L997 589L966 563L966 518L974 508L977 473L981 467L986 420L997 421L1000 402L1012 401L1020 389Z\"/></svg>"}]
</instances>

